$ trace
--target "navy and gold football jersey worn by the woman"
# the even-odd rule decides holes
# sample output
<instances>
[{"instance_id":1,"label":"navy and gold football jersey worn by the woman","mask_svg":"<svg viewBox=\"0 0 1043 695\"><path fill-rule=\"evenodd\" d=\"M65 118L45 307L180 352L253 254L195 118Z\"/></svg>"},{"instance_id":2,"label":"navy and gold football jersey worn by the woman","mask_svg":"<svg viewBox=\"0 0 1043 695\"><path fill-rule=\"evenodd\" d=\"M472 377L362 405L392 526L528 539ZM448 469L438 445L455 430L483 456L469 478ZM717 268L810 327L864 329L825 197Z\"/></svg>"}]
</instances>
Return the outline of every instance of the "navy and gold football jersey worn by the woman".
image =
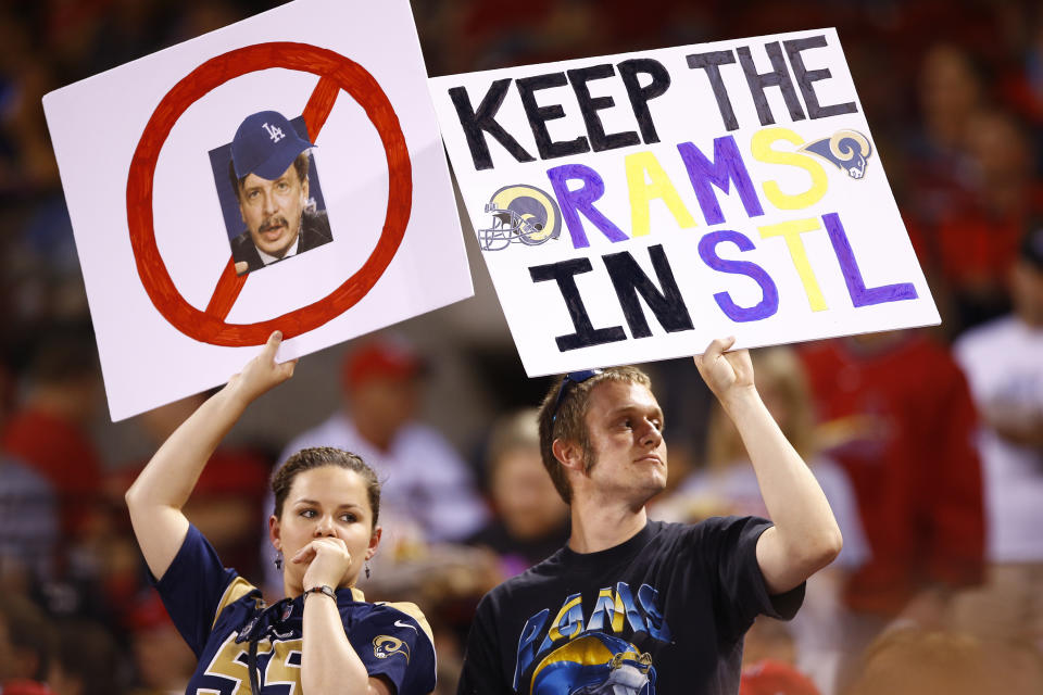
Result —
<instances>
[{"instance_id":1,"label":"navy and gold football jersey worn by the woman","mask_svg":"<svg viewBox=\"0 0 1043 695\"><path fill-rule=\"evenodd\" d=\"M188 695L250 694L252 639L261 695L301 695L302 596L265 607L261 592L223 567L193 526L155 587L199 659ZM415 605L369 604L357 589L338 589L337 606L348 641L370 677L386 678L399 695L435 690L430 628Z\"/></svg>"}]
</instances>

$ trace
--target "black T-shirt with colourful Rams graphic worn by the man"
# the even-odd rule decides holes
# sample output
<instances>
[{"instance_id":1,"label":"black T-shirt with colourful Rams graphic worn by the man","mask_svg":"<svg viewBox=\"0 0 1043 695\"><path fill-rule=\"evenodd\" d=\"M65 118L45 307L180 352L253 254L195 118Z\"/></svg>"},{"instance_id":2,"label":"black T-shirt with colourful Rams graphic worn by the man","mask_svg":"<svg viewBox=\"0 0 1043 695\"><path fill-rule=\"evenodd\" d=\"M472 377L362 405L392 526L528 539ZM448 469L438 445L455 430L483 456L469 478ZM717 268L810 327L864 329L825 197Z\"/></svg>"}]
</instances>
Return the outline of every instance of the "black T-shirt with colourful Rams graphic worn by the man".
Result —
<instances>
[{"instance_id":1,"label":"black T-shirt with colourful Rams graphic worn by the man","mask_svg":"<svg viewBox=\"0 0 1043 695\"><path fill-rule=\"evenodd\" d=\"M758 614L790 619L804 585L769 596L756 517L650 521L599 553L567 546L478 606L458 695L734 695Z\"/></svg>"}]
</instances>

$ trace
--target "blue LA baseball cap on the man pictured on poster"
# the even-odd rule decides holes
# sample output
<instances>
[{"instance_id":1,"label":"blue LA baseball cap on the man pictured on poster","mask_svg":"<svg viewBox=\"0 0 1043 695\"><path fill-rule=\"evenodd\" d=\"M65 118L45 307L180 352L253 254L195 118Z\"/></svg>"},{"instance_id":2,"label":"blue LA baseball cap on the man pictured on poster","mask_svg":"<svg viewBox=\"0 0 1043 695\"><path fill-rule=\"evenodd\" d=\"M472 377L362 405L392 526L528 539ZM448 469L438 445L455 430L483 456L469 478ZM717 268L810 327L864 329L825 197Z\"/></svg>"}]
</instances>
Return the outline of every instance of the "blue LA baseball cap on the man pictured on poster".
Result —
<instances>
[{"instance_id":1,"label":"blue LA baseball cap on the man pictured on poster","mask_svg":"<svg viewBox=\"0 0 1043 695\"><path fill-rule=\"evenodd\" d=\"M240 179L256 174L268 180L282 176L301 152L315 147L304 140L277 111L247 116L231 139L231 164Z\"/></svg>"}]
</instances>

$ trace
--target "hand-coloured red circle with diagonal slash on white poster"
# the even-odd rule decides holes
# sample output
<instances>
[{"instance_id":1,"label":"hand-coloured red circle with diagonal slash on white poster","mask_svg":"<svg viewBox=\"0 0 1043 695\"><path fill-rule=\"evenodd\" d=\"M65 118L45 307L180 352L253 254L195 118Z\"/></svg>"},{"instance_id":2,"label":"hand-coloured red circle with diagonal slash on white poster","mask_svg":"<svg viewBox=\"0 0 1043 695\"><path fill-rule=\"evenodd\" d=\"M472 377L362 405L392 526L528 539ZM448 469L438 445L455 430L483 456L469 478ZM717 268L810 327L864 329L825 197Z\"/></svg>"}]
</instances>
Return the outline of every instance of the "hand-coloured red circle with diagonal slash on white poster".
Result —
<instances>
[{"instance_id":1,"label":"hand-coloured red circle with diagonal slash on white poster","mask_svg":"<svg viewBox=\"0 0 1043 695\"><path fill-rule=\"evenodd\" d=\"M160 150L181 114L224 83L272 67L312 73L318 84L304 108L312 141L329 116L340 90L366 112L377 129L388 159L388 212L376 248L363 266L327 296L276 318L256 324L226 324L249 275L237 276L229 258L206 311L181 296L155 244L152 186ZM213 345L261 345L272 331L286 339L300 336L340 316L364 298L394 257L413 205L413 168L399 118L377 80L361 65L330 50L306 43L271 42L247 46L206 61L163 97L141 134L127 179L127 225L138 276L152 304L179 331Z\"/></svg>"}]
</instances>

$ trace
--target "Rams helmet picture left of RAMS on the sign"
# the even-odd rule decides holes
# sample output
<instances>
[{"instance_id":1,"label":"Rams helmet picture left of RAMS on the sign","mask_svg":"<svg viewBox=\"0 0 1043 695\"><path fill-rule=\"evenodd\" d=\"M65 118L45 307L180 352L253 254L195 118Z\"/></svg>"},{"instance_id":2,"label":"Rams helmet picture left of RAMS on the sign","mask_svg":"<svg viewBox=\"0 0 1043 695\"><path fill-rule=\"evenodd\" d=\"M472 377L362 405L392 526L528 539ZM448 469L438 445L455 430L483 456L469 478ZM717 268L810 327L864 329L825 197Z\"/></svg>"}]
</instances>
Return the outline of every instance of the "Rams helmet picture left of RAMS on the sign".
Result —
<instances>
[{"instance_id":1,"label":"Rams helmet picture left of RAMS on the sign","mask_svg":"<svg viewBox=\"0 0 1043 695\"><path fill-rule=\"evenodd\" d=\"M562 213L545 192L526 184L504 186L486 203L492 226L478 230L483 251L500 251L518 241L529 247L562 233Z\"/></svg>"}]
</instances>

